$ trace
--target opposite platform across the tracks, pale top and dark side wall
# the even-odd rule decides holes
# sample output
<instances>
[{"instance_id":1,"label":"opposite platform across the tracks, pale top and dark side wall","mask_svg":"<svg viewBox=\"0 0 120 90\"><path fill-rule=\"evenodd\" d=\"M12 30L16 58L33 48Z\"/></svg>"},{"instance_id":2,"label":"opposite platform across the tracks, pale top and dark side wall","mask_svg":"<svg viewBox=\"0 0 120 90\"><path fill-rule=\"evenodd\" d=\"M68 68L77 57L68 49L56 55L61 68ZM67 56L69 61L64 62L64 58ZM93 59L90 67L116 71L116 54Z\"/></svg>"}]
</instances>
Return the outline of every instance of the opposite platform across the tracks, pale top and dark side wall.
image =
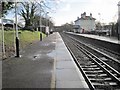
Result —
<instances>
[{"instance_id":1,"label":"opposite platform across the tracks, pale top and dark side wall","mask_svg":"<svg viewBox=\"0 0 120 90\"><path fill-rule=\"evenodd\" d=\"M91 43L92 45L98 45L117 54L120 53L120 40L118 40L117 38L91 34L78 34L73 32L67 33L79 37L80 40Z\"/></svg>"}]
</instances>

